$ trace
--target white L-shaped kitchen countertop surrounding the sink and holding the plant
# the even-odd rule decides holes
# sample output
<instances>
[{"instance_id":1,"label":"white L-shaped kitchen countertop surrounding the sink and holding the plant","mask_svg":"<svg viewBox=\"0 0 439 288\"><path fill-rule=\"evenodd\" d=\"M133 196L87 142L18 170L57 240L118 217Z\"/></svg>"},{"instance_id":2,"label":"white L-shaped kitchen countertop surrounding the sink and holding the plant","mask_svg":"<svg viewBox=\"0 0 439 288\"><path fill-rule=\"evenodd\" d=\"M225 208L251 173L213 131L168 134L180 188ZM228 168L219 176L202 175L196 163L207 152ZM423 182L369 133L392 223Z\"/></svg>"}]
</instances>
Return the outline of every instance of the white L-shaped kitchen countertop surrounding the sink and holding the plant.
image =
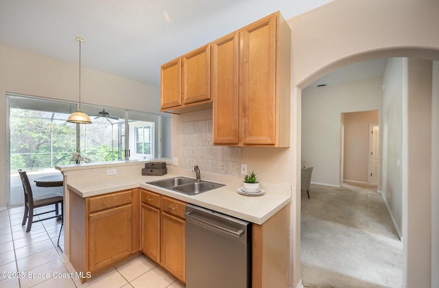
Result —
<instances>
[{"instance_id":1,"label":"white L-shaped kitchen countertop surrounding the sink and holding the plant","mask_svg":"<svg viewBox=\"0 0 439 288\"><path fill-rule=\"evenodd\" d=\"M98 180L68 182L67 188L81 197L90 197L141 187L239 219L244 219L254 224L263 224L263 222L291 202L291 185L289 184L261 182L261 188L265 189L265 194L260 196L245 196L237 193L239 184L237 185L236 182L223 182L227 185L198 195L186 195L178 193L177 191L146 184L146 182L178 176L180 175L114 176Z\"/></svg>"}]
</instances>

